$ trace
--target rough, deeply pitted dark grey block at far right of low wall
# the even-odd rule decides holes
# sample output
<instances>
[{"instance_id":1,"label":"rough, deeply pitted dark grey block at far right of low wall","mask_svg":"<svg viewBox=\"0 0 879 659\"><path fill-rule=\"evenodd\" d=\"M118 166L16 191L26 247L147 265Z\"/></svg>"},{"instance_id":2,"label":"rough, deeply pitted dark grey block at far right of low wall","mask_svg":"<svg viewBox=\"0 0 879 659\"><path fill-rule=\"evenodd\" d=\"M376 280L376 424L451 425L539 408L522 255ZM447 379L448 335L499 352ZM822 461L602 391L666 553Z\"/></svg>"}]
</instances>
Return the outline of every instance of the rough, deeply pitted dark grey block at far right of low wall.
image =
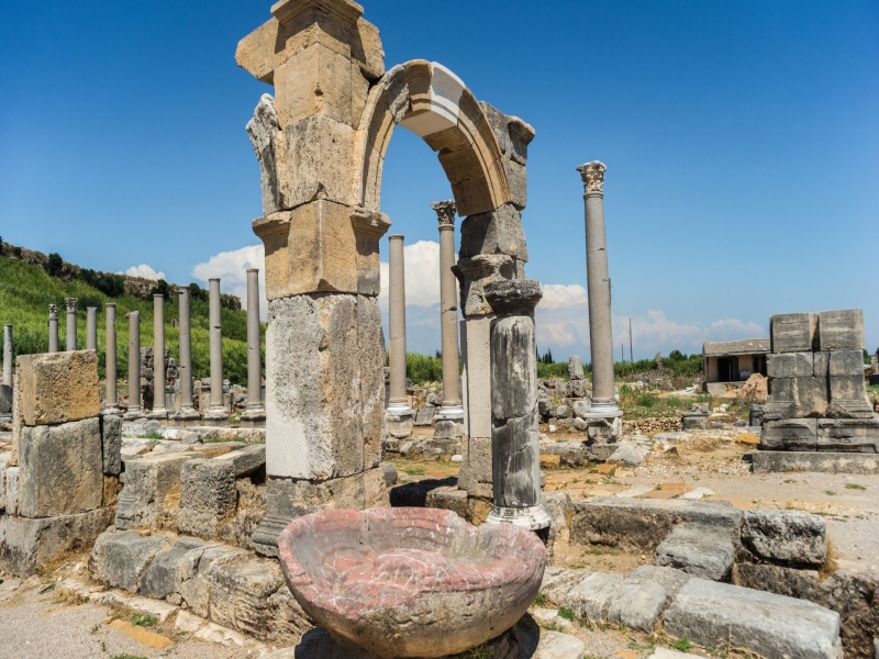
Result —
<instances>
[{"instance_id":1,"label":"rough, deeply pitted dark grey block at far right of low wall","mask_svg":"<svg viewBox=\"0 0 879 659\"><path fill-rule=\"evenodd\" d=\"M827 558L823 517L797 511L745 512L742 541L758 557L795 565L821 566Z\"/></svg>"}]
</instances>

